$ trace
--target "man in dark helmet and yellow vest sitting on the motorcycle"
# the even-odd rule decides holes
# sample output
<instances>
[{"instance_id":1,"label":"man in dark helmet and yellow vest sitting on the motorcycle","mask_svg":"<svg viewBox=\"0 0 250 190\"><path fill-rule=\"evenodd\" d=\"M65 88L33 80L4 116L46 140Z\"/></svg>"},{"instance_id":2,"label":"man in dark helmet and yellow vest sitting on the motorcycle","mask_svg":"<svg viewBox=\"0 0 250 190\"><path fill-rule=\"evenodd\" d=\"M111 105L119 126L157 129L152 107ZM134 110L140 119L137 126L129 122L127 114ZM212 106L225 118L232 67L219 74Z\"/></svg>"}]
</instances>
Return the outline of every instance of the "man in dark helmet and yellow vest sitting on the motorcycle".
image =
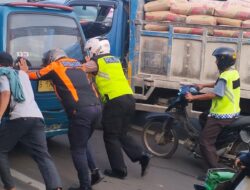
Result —
<instances>
[{"instance_id":1,"label":"man in dark helmet and yellow vest sitting on the motorcycle","mask_svg":"<svg viewBox=\"0 0 250 190\"><path fill-rule=\"evenodd\" d=\"M232 123L240 114L240 77L234 64L236 53L233 49L221 47L215 49L213 56L220 72L215 83L198 84L200 89L214 87L213 92L201 95L186 95L189 101L212 100L212 106L206 124L200 135L200 149L209 168L219 167L216 154L216 138L224 126Z\"/></svg>"}]
</instances>

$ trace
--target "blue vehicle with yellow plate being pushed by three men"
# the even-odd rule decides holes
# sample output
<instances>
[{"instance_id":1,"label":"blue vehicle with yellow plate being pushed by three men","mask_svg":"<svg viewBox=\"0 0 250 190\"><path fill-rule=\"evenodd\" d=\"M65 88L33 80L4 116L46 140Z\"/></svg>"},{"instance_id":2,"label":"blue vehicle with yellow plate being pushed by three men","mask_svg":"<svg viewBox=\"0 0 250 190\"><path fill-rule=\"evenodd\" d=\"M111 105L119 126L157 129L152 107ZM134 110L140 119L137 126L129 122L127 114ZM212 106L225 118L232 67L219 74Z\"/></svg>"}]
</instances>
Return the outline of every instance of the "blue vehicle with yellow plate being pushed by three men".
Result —
<instances>
[{"instance_id":1,"label":"blue vehicle with yellow plate being pushed by three men","mask_svg":"<svg viewBox=\"0 0 250 190\"><path fill-rule=\"evenodd\" d=\"M43 54L61 48L83 60L85 37L72 8L63 5L12 2L0 4L0 51L25 57L31 70L41 68ZM67 133L68 119L51 81L31 81L46 123L48 138Z\"/></svg>"}]
</instances>

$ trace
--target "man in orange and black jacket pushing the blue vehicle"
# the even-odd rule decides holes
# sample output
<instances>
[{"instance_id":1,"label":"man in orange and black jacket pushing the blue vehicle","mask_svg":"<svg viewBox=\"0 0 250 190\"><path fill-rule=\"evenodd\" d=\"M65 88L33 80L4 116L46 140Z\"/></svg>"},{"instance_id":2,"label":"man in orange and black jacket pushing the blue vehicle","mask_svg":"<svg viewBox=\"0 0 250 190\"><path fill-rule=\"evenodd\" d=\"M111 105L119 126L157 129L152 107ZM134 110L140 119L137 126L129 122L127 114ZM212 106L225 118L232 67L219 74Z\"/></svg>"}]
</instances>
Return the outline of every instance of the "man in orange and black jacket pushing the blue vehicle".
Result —
<instances>
[{"instance_id":1,"label":"man in orange and black jacket pushing the blue vehicle","mask_svg":"<svg viewBox=\"0 0 250 190\"><path fill-rule=\"evenodd\" d=\"M46 77L52 80L56 94L61 99L68 115L70 150L80 182L79 188L69 189L90 190L87 144L94 126L97 125L101 117L101 105L97 93L82 64L67 57L62 49L46 52L43 66L36 72L28 73L30 79Z\"/></svg>"}]
</instances>

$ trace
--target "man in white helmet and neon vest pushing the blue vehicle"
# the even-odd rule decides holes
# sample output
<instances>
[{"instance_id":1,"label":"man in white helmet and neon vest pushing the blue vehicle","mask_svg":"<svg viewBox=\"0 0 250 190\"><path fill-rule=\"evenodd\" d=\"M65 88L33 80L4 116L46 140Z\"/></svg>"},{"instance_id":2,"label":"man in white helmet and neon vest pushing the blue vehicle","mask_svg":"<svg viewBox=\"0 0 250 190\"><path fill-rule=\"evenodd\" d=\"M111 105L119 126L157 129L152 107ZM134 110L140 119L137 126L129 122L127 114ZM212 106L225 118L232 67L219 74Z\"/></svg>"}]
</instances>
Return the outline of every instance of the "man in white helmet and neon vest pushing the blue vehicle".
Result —
<instances>
[{"instance_id":1,"label":"man in white helmet and neon vest pushing the blue vehicle","mask_svg":"<svg viewBox=\"0 0 250 190\"><path fill-rule=\"evenodd\" d=\"M102 125L104 142L111 170L105 175L123 179L127 168L122 149L133 162L141 164L141 176L145 175L150 157L144 153L134 139L127 134L131 117L135 112L133 92L124 75L120 60L110 54L110 44L106 38L95 37L84 47L87 58L84 64L86 72L95 75L95 82L104 104Z\"/></svg>"}]
</instances>

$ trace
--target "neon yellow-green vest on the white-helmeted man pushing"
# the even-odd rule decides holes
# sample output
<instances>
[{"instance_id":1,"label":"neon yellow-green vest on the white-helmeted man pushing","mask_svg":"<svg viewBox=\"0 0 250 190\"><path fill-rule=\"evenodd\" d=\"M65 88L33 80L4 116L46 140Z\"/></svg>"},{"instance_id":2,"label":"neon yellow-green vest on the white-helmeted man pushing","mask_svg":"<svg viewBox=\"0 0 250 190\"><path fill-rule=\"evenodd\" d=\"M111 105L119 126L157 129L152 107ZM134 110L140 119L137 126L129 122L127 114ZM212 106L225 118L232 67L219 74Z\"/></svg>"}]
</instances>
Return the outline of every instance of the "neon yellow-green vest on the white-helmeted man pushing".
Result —
<instances>
[{"instance_id":1,"label":"neon yellow-green vest on the white-helmeted man pushing","mask_svg":"<svg viewBox=\"0 0 250 190\"><path fill-rule=\"evenodd\" d=\"M98 73L95 81L103 102L113 98L133 94L126 79L120 60L108 55L97 60Z\"/></svg>"}]
</instances>

